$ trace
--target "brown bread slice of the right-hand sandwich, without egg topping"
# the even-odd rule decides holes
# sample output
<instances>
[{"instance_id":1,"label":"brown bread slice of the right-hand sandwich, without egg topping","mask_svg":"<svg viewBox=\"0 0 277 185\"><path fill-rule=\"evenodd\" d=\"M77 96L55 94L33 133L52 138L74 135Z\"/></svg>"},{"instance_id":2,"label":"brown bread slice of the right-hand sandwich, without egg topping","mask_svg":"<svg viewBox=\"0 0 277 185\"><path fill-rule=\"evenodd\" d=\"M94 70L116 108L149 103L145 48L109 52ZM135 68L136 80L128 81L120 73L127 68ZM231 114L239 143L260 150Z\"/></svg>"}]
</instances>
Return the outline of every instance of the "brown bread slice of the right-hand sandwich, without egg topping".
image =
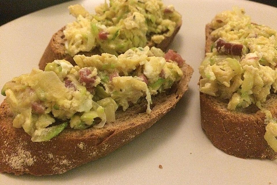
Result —
<instances>
[{"instance_id":1,"label":"brown bread slice of the right-hand sandwich, without egg topping","mask_svg":"<svg viewBox=\"0 0 277 185\"><path fill-rule=\"evenodd\" d=\"M206 53L215 42L206 25ZM228 101L200 92L201 125L214 146L239 158L275 159L273 151L264 139L265 114L251 105L245 109L227 110ZM277 95L270 94L263 107L277 115Z\"/></svg>"}]
</instances>

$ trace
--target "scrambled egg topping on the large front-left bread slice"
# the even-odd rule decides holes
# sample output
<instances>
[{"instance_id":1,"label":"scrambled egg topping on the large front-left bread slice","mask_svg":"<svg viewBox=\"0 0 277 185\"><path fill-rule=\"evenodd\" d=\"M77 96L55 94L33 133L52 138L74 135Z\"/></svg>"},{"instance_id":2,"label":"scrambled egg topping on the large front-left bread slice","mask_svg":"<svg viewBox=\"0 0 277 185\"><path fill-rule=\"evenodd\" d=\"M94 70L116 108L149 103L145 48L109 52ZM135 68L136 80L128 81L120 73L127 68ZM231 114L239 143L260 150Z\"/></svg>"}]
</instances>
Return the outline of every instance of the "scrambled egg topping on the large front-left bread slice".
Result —
<instances>
[{"instance_id":1,"label":"scrambled egg topping on the large front-left bread slice","mask_svg":"<svg viewBox=\"0 0 277 185\"><path fill-rule=\"evenodd\" d=\"M165 54L148 46L129 49L118 57L103 53L76 55L74 60L76 66L55 60L45 71L33 69L1 90L14 112L13 126L23 127L32 141L50 140L68 125L72 129L103 127L115 121L118 107L126 110L143 97L149 114L151 95L171 88L183 75L179 67L184 61L177 53Z\"/></svg>"}]
</instances>

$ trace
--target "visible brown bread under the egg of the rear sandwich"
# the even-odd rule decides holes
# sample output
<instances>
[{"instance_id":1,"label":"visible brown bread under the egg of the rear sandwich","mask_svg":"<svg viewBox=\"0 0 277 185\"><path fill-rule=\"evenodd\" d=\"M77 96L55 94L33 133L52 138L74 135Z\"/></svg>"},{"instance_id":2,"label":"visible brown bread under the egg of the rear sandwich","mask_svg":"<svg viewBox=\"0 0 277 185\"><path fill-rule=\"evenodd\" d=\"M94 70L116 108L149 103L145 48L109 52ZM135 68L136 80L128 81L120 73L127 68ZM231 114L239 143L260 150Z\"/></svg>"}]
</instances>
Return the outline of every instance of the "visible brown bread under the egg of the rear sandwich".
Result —
<instances>
[{"instance_id":1,"label":"visible brown bread under the egg of the rear sandwich","mask_svg":"<svg viewBox=\"0 0 277 185\"><path fill-rule=\"evenodd\" d=\"M173 38L175 37L175 35L178 33L181 25L182 25L182 21L180 21L176 25L173 34L170 37L166 37L160 44L156 44L152 41L149 41L147 43L147 46L149 46L150 48L155 46L157 48L162 49L162 51L165 52L166 50L168 50L169 45L173 41ZM57 33L55 33L52 36L38 64L39 69L44 70L47 63L53 62L56 59L58 60L65 59L68 62L70 62L73 66L76 65L76 63L73 60L73 57L65 53L65 47L64 47L65 36L63 34L64 29L65 27L62 27ZM100 55L101 52L98 50L98 48L95 48L90 52L78 52L76 55L91 56L91 55L97 55L97 54Z\"/></svg>"}]
</instances>

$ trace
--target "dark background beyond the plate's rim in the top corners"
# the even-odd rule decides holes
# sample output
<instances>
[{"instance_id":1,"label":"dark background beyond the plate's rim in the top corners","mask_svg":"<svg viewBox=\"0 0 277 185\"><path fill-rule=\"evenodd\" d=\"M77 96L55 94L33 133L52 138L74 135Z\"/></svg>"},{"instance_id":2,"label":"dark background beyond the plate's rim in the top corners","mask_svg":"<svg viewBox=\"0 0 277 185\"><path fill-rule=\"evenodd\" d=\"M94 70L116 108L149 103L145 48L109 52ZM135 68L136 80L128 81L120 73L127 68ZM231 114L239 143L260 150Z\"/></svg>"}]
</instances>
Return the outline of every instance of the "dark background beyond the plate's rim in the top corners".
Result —
<instances>
[{"instance_id":1,"label":"dark background beyond the plate's rim in the top corners","mask_svg":"<svg viewBox=\"0 0 277 185\"><path fill-rule=\"evenodd\" d=\"M0 0L0 25L3 25L13 19L16 19L20 16L35 12L37 10L53 6L59 3L63 3L70 0L40 0L30 1L30 0ZM93 0L92 0L93 1ZM201 1L201 0L199 0ZM225 1L225 0L222 0ZM277 7L276 0L252 0L259 3L271 5Z\"/></svg>"}]
</instances>

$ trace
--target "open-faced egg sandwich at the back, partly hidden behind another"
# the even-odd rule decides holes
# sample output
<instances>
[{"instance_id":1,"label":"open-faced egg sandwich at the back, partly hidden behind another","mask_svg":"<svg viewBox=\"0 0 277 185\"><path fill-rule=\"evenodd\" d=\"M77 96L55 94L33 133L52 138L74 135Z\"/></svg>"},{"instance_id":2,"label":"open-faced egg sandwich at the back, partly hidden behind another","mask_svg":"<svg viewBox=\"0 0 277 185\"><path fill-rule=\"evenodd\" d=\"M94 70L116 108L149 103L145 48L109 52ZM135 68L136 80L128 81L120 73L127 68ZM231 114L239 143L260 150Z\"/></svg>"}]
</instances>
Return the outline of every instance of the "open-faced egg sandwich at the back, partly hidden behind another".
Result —
<instances>
[{"instance_id":1,"label":"open-faced egg sandwich at the back, partly hidden behind another","mask_svg":"<svg viewBox=\"0 0 277 185\"><path fill-rule=\"evenodd\" d=\"M110 0L90 14L81 5L69 7L76 21L51 38L39 68L56 59L75 65L76 54L118 56L132 47L155 46L166 51L181 27L181 15L160 0Z\"/></svg>"}]
</instances>

